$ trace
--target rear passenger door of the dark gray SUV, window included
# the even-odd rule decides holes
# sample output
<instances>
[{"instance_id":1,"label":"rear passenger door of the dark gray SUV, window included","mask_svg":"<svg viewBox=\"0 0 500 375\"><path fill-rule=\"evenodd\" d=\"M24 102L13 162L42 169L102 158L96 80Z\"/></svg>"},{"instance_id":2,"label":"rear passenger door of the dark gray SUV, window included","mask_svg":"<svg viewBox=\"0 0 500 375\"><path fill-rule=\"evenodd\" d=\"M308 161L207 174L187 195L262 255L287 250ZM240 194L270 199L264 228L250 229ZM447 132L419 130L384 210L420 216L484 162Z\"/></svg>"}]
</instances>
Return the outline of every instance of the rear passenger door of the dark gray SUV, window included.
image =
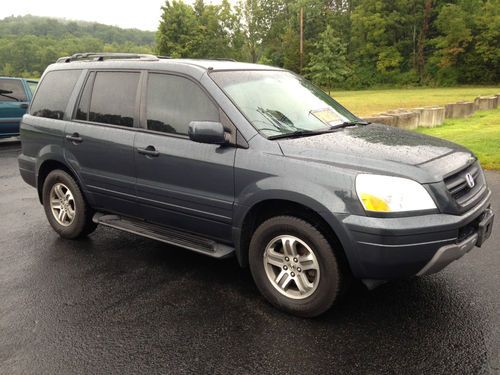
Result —
<instances>
[{"instance_id":1,"label":"rear passenger door of the dark gray SUV, window included","mask_svg":"<svg viewBox=\"0 0 500 375\"><path fill-rule=\"evenodd\" d=\"M137 216L134 126L140 72L90 72L73 121L66 126L66 158L104 211Z\"/></svg>"}]
</instances>

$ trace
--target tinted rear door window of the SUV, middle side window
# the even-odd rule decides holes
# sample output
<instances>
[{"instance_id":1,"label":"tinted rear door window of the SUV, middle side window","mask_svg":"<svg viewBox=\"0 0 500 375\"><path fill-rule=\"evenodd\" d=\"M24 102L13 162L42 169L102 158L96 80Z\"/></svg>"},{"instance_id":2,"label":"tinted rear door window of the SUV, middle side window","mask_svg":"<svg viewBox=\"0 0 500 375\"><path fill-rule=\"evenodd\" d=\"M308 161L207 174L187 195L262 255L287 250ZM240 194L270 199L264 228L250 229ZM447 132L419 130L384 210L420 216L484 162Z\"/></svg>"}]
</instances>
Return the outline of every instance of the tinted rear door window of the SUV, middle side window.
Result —
<instances>
[{"instance_id":1,"label":"tinted rear door window of the SUV, middle side window","mask_svg":"<svg viewBox=\"0 0 500 375\"><path fill-rule=\"evenodd\" d=\"M90 100L89 121L134 126L139 73L98 72Z\"/></svg>"}]
</instances>

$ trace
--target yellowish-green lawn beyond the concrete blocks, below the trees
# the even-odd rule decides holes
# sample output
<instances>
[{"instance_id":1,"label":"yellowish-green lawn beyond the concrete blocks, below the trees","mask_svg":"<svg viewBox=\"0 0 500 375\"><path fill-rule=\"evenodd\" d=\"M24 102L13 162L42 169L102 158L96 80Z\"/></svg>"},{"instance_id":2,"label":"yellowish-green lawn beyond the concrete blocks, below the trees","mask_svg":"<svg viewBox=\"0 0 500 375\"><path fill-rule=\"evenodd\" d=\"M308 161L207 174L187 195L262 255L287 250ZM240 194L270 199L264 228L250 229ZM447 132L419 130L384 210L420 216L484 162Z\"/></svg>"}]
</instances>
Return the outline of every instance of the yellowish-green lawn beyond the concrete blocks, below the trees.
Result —
<instances>
[{"instance_id":1,"label":"yellowish-green lawn beyond the concrete blocks, below the trees","mask_svg":"<svg viewBox=\"0 0 500 375\"><path fill-rule=\"evenodd\" d=\"M330 95L358 116L390 109L443 105L477 96L500 94L500 86L331 91Z\"/></svg>"}]
</instances>

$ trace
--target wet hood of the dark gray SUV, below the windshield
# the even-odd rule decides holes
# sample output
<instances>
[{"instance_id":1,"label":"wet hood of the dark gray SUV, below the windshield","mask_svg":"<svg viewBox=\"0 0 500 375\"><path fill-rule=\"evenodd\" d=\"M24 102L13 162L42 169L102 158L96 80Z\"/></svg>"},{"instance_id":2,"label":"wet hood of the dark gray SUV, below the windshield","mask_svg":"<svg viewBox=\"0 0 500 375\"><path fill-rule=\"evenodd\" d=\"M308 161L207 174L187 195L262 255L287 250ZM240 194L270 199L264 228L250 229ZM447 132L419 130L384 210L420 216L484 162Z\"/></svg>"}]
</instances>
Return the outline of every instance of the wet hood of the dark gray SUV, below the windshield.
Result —
<instances>
[{"instance_id":1,"label":"wet hood of the dark gray SUV, below the windshield","mask_svg":"<svg viewBox=\"0 0 500 375\"><path fill-rule=\"evenodd\" d=\"M437 182L476 158L439 138L386 125L357 125L310 137L279 140L288 157Z\"/></svg>"}]
</instances>

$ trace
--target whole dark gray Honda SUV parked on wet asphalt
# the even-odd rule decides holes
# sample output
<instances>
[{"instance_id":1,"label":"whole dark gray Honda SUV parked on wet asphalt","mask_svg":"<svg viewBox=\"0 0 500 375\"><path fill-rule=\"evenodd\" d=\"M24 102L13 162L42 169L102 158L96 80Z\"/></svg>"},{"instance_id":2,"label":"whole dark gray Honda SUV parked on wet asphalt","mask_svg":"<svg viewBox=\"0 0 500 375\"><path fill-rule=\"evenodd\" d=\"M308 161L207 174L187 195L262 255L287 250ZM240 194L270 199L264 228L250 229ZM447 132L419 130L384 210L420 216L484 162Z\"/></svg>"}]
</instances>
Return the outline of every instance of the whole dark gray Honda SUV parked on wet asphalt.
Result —
<instances>
[{"instance_id":1,"label":"whole dark gray Honda SUV parked on wet asphalt","mask_svg":"<svg viewBox=\"0 0 500 375\"><path fill-rule=\"evenodd\" d=\"M476 157L367 124L283 69L78 54L47 68L21 124L23 179L64 238L98 224L223 258L275 306L326 311L441 270L488 238Z\"/></svg>"}]
</instances>

